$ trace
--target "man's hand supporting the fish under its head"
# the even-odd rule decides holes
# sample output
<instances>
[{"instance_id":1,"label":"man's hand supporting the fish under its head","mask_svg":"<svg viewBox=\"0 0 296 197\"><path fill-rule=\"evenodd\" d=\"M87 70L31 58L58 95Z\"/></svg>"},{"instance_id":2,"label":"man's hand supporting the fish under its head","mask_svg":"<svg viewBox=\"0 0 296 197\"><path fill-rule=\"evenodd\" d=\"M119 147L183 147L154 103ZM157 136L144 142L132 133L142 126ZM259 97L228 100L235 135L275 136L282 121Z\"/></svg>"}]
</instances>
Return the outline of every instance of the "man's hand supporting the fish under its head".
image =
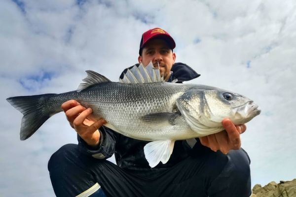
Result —
<instances>
[{"instance_id":1,"label":"man's hand supporting the fish under its head","mask_svg":"<svg viewBox=\"0 0 296 197\"><path fill-rule=\"evenodd\" d=\"M222 125L224 131L200 137L201 144L215 152L220 150L224 154L227 154L230 150L240 149L240 134L246 131L246 125L234 125L229 119L224 119Z\"/></svg>"}]
</instances>

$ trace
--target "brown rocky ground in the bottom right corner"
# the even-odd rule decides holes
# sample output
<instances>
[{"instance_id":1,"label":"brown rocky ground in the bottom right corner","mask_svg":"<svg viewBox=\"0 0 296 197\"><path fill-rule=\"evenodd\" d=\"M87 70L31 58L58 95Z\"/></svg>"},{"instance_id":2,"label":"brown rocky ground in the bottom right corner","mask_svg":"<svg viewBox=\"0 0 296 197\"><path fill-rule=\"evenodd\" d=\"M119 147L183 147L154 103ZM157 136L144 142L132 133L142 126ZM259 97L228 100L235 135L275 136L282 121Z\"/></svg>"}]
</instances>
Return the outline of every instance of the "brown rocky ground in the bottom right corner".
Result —
<instances>
[{"instance_id":1,"label":"brown rocky ground in the bottom right corner","mask_svg":"<svg viewBox=\"0 0 296 197\"><path fill-rule=\"evenodd\" d=\"M272 181L264 187L257 184L251 197L296 197L296 179L280 183Z\"/></svg>"}]
</instances>

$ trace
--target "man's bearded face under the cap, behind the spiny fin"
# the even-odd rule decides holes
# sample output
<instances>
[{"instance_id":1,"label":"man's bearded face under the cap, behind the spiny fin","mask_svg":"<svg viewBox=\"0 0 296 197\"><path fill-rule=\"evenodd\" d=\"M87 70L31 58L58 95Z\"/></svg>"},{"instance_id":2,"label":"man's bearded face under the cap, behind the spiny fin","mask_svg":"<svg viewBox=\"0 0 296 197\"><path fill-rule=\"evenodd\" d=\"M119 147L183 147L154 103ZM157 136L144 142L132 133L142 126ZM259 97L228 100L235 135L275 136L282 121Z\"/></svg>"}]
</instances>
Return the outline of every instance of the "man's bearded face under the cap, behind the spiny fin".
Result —
<instances>
[{"instance_id":1,"label":"man's bearded face under the cap, behind the spiny fin","mask_svg":"<svg viewBox=\"0 0 296 197\"><path fill-rule=\"evenodd\" d=\"M164 79L167 81L170 77L171 68L176 60L176 54L172 52L172 49L162 39L153 39L149 41L142 51L142 56L139 56L139 63L143 63L147 66L152 61L153 66L160 67L161 75L164 75Z\"/></svg>"}]
</instances>

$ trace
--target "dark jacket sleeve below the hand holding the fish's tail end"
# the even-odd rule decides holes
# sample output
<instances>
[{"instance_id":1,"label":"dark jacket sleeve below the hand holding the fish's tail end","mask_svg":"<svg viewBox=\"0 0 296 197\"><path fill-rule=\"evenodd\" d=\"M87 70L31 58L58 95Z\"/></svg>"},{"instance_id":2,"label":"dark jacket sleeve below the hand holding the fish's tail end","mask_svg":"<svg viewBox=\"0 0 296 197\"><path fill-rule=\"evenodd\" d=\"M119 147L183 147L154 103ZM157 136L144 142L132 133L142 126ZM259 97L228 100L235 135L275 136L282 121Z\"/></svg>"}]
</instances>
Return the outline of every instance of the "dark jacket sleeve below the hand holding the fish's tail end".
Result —
<instances>
[{"instance_id":1,"label":"dark jacket sleeve below the hand holding the fish's tail end","mask_svg":"<svg viewBox=\"0 0 296 197\"><path fill-rule=\"evenodd\" d=\"M108 159L115 152L115 145L117 140L117 133L112 131L107 127L101 127L99 129L101 133L100 143L97 147L92 147L87 145L87 143L79 136L78 138L78 147L79 150L89 156L92 156L96 159Z\"/></svg>"}]
</instances>

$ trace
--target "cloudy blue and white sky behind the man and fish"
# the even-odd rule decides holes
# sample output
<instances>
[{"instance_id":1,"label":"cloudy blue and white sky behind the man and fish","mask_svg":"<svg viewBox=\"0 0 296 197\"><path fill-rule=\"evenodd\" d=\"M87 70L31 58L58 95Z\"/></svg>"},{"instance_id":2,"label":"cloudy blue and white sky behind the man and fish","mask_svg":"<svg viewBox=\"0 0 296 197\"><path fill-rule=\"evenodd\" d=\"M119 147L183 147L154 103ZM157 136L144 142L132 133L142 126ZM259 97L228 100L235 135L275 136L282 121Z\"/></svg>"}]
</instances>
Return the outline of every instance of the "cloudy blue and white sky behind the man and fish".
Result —
<instances>
[{"instance_id":1,"label":"cloudy blue and white sky behind the man and fish","mask_svg":"<svg viewBox=\"0 0 296 197\"><path fill-rule=\"evenodd\" d=\"M118 81L154 27L174 37L176 61L201 74L189 83L261 108L241 135L252 186L296 178L295 21L295 0L1 0L0 197L54 196L48 160L77 143L63 113L20 141L22 114L5 99L75 90L84 70Z\"/></svg>"}]
</instances>

